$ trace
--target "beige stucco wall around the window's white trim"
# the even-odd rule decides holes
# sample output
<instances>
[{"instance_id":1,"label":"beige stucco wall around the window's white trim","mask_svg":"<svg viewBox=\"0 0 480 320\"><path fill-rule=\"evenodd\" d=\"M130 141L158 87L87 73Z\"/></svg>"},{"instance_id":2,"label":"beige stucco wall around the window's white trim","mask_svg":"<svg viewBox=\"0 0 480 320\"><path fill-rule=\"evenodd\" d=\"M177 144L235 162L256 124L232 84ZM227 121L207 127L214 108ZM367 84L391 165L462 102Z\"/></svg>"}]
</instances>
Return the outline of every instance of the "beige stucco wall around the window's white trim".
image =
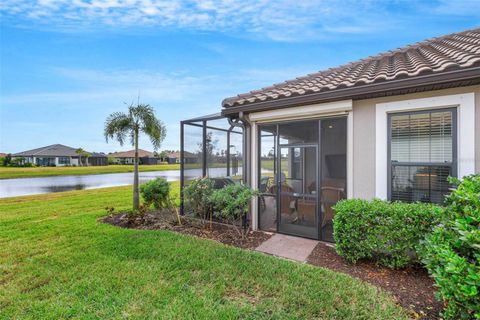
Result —
<instances>
[{"instance_id":1,"label":"beige stucco wall around the window's white trim","mask_svg":"<svg viewBox=\"0 0 480 320\"><path fill-rule=\"evenodd\" d=\"M353 197L375 196L375 105L391 101L475 93L475 172L480 173L480 86L353 101Z\"/></svg>"}]
</instances>

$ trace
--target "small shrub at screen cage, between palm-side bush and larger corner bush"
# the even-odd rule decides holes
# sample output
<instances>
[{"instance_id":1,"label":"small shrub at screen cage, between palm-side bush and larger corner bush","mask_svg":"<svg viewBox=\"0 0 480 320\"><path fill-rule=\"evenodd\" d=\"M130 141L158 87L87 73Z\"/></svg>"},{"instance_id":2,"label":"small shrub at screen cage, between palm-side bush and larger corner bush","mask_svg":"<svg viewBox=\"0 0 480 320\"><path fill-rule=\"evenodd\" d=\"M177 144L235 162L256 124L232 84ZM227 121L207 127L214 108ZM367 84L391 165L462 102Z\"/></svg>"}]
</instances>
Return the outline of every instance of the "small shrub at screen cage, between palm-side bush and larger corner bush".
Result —
<instances>
[{"instance_id":1,"label":"small shrub at screen cage, between palm-side bush and larger corner bush","mask_svg":"<svg viewBox=\"0 0 480 320\"><path fill-rule=\"evenodd\" d=\"M183 188L183 199L185 206L195 216L207 220L212 213L212 195L215 191L213 180L209 178L198 178L189 182Z\"/></svg>"}]
</instances>

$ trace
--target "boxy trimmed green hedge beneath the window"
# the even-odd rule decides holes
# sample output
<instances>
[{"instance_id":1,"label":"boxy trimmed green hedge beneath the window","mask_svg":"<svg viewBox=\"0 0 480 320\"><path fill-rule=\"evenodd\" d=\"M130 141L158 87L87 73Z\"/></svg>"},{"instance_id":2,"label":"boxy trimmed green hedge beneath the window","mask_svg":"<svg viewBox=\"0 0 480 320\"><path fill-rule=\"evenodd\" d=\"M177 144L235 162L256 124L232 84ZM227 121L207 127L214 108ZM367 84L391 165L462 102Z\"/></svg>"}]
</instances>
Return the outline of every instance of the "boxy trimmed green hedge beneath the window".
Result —
<instances>
[{"instance_id":1,"label":"boxy trimmed green hedge beneath the window","mask_svg":"<svg viewBox=\"0 0 480 320\"><path fill-rule=\"evenodd\" d=\"M415 247L437 223L441 208L425 203L349 199L335 205L335 247L352 263L373 259L389 268L416 262Z\"/></svg>"}]
</instances>

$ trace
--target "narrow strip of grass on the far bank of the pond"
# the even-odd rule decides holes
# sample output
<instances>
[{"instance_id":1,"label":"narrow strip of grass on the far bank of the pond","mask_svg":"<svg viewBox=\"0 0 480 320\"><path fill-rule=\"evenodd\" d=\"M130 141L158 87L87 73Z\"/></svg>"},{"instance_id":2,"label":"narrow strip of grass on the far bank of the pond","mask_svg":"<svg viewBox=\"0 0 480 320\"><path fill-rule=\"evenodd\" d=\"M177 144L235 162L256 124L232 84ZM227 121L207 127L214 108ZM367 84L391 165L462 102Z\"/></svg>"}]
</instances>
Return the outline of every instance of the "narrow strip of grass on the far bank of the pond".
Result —
<instances>
[{"instance_id":1,"label":"narrow strip of grass on the far bank of the pond","mask_svg":"<svg viewBox=\"0 0 480 320\"><path fill-rule=\"evenodd\" d=\"M141 165L140 171L163 171L179 170L179 164L156 164ZM34 167L34 168L13 168L0 167L0 179L31 178L46 176L69 176L102 173L133 172L133 165L109 165L90 167Z\"/></svg>"}]
</instances>

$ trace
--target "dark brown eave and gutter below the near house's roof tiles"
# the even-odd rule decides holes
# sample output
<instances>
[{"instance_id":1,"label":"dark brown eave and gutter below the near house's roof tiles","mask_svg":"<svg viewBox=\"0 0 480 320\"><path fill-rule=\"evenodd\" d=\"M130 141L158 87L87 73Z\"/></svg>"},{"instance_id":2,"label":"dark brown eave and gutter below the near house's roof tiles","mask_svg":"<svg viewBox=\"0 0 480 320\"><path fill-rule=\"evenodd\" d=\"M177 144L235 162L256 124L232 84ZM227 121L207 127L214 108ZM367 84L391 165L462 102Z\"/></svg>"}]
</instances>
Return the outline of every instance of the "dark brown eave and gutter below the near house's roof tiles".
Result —
<instances>
[{"instance_id":1,"label":"dark brown eave and gutter below the near house's roof tiles","mask_svg":"<svg viewBox=\"0 0 480 320\"><path fill-rule=\"evenodd\" d=\"M416 76L412 78L404 78L362 86L336 89L332 91L299 95L295 97L267 100L233 107L224 106L222 114L224 116L232 116L239 112L249 113L267 111L272 109L289 108L343 99L360 100L377 98L385 95L402 94L396 92L409 89L417 89L418 91L420 91L420 89L425 88L425 90L423 91L428 91L432 90L427 89L429 86L432 85L449 85L450 87L452 87L455 83L459 83L458 86L461 86L460 82L467 80L472 81L472 84L480 83L480 67L453 70L437 74L434 73L423 76Z\"/></svg>"}]
</instances>

